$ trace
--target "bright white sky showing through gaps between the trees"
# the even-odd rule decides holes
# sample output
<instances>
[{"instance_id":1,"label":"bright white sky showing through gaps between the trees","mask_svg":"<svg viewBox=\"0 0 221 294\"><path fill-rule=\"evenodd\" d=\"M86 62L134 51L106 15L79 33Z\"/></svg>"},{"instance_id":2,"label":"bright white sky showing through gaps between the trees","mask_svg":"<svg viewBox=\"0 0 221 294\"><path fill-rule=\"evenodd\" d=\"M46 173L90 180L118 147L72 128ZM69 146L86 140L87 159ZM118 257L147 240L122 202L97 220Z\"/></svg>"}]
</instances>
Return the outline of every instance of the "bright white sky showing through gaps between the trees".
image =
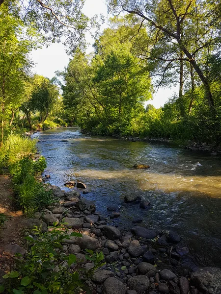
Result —
<instances>
[{"instance_id":1,"label":"bright white sky showing through gaps between the trees","mask_svg":"<svg viewBox=\"0 0 221 294\"><path fill-rule=\"evenodd\" d=\"M88 17L92 17L95 14L103 14L105 17L108 17L105 0L86 0L83 12ZM102 29L104 29L106 26L107 25L104 24ZM90 43L87 48L87 53L89 53L93 51L93 39L88 34L86 36L86 40L87 43ZM31 52L31 59L35 64L33 73L52 78L55 76L55 71L64 70L64 68L68 65L70 58L71 56L67 55L65 48L61 43L52 44L48 48L43 47L42 49L33 50ZM153 95L153 100L150 100L147 103L151 103L156 108L159 108L160 106L164 105L164 103L168 100L169 97L173 95L174 92L178 92L177 87L172 89L160 88L158 92Z\"/></svg>"}]
</instances>

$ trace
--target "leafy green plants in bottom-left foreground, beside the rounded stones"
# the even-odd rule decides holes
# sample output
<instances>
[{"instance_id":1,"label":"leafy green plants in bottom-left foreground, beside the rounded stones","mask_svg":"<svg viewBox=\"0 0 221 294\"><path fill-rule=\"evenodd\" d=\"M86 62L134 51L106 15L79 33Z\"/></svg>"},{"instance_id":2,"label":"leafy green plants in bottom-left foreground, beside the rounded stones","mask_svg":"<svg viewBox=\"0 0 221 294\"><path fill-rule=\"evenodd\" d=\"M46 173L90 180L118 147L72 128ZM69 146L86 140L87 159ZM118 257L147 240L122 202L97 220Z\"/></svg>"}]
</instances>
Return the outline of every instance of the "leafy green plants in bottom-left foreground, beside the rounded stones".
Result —
<instances>
[{"instance_id":1,"label":"leafy green plants in bottom-left foreground, beside the rounded stones","mask_svg":"<svg viewBox=\"0 0 221 294\"><path fill-rule=\"evenodd\" d=\"M104 255L102 252L87 252L86 258L94 262L94 267L89 271L82 271L76 264L74 254L67 255L62 251L62 243L70 237L82 237L79 233L67 234L63 224L54 223L50 231L41 232L41 228L33 229L34 237L25 239L28 243L28 253L25 257L16 258L16 270L4 275L6 283L0 293L20 294L73 294L81 287L87 290L85 281L103 265Z\"/></svg>"}]
</instances>

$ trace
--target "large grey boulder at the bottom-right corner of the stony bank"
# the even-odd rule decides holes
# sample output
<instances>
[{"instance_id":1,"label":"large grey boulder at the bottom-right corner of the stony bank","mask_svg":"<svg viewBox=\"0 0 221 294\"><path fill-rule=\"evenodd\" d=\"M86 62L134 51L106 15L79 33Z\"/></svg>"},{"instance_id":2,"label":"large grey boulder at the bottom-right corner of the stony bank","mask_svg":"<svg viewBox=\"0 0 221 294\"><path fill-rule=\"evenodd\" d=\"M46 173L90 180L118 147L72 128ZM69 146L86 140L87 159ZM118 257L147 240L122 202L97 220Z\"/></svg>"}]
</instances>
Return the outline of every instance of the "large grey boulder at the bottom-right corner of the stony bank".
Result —
<instances>
[{"instance_id":1,"label":"large grey boulder at the bottom-right corner of the stony bank","mask_svg":"<svg viewBox=\"0 0 221 294\"><path fill-rule=\"evenodd\" d=\"M205 267L191 274L191 282L202 292L207 294L221 294L221 269Z\"/></svg>"}]
</instances>

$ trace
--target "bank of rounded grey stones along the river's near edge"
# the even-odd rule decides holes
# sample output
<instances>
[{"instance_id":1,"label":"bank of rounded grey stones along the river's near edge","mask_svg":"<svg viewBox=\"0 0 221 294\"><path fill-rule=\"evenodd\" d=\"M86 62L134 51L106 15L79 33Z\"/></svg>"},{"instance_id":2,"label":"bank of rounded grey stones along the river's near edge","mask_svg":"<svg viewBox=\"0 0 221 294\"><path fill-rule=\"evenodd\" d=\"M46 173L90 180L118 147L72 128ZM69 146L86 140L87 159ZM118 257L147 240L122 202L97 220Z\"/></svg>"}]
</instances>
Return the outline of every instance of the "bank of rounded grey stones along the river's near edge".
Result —
<instances>
[{"instance_id":1,"label":"bank of rounded grey stones along the river's near edge","mask_svg":"<svg viewBox=\"0 0 221 294\"><path fill-rule=\"evenodd\" d=\"M31 229L42 224L47 230L53 222L64 221L68 234L80 232L83 237L70 237L62 250L75 254L77 265L84 270L93 267L93 262L85 258L85 249L103 251L106 264L87 280L92 293L221 294L221 269L197 267L194 256L176 232L158 232L138 225L130 231L115 227L111 225L111 218L117 214L114 207L108 208L110 216L106 218L79 191L64 192L56 186L48 189L52 189L58 201L35 213L35 218L24 220L22 225ZM10 251L15 249L13 246L18 252L16 244ZM19 250L24 254L23 248ZM74 271L75 266L70 270Z\"/></svg>"}]
</instances>

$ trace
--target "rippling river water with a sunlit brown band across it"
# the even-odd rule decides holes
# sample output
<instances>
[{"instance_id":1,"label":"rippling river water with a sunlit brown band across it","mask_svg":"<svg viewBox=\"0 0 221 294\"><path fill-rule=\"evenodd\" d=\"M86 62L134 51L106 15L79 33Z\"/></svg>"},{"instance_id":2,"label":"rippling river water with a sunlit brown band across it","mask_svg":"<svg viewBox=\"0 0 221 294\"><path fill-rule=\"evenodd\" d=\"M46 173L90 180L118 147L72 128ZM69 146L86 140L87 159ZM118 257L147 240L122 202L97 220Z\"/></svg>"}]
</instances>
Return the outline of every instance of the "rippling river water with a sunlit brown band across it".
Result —
<instances>
[{"instance_id":1,"label":"rippling river water with a sunlit brown band across it","mask_svg":"<svg viewBox=\"0 0 221 294\"><path fill-rule=\"evenodd\" d=\"M134 217L155 230L178 232L203 264L221 266L221 157L146 142L86 136L80 128L58 128L35 133L51 175L59 186L79 180L91 190L84 195L95 201L97 211L108 216L116 205L121 216L113 223L132 227ZM61 142L68 140L68 142ZM148 170L135 170L137 164ZM151 203L141 210L124 203L136 194Z\"/></svg>"}]
</instances>

